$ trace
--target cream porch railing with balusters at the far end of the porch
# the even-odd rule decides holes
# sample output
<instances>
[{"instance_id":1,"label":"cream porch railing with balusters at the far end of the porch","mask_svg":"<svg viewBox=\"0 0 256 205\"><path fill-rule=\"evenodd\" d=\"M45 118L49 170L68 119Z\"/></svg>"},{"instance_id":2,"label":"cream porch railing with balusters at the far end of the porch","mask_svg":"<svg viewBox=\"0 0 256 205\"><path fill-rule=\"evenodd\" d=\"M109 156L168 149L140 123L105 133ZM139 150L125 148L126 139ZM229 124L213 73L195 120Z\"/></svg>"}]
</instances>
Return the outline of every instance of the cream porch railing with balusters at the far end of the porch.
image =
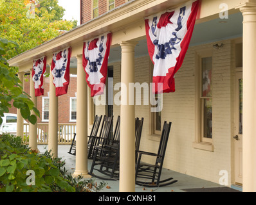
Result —
<instances>
[{"instance_id":1,"label":"cream porch railing with balusters at the far end of the porch","mask_svg":"<svg viewBox=\"0 0 256 205\"><path fill-rule=\"evenodd\" d=\"M76 124L59 123L58 124L58 144L71 144L74 133L76 133ZM48 144L48 123L37 123L37 144ZM24 124L24 143L29 143L30 124Z\"/></svg>"}]
</instances>

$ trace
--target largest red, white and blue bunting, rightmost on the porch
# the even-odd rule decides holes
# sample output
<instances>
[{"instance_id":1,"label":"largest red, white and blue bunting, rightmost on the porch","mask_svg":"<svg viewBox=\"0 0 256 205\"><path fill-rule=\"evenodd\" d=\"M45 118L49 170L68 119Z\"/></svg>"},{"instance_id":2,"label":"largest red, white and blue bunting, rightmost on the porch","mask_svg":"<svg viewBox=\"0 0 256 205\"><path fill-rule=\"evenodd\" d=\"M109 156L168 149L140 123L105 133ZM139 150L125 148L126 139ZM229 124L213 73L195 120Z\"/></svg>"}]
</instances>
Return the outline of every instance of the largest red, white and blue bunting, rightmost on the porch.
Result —
<instances>
[{"instance_id":1,"label":"largest red, white and blue bunting, rightmost on the porch","mask_svg":"<svg viewBox=\"0 0 256 205\"><path fill-rule=\"evenodd\" d=\"M198 8L199 0L188 1L175 10L145 19L149 56L154 63L154 94L175 92L174 74L187 53Z\"/></svg>"}]
</instances>

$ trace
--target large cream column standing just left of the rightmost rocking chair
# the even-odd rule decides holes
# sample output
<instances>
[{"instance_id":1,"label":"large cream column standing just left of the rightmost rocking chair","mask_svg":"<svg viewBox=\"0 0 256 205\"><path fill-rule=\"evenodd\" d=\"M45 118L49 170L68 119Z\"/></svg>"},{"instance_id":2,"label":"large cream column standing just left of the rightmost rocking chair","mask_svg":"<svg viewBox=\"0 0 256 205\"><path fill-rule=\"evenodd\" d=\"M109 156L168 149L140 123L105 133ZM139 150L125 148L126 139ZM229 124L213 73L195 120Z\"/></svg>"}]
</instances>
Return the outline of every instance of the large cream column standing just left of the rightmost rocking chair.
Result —
<instances>
[{"instance_id":1,"label":"large cream column standing just left of the rightmost rocking chair","mask_svg":"<svg viewBox=\"0 0 256 205\"><path fill-rule=\"evenodd\" d=\"M134 47L137 42L122 42L120 106L120 192L135 192L135 107L129 105L129 83L134 83ZM126 96L125 96L126 95Z\"/></svg>"}]
</instances>

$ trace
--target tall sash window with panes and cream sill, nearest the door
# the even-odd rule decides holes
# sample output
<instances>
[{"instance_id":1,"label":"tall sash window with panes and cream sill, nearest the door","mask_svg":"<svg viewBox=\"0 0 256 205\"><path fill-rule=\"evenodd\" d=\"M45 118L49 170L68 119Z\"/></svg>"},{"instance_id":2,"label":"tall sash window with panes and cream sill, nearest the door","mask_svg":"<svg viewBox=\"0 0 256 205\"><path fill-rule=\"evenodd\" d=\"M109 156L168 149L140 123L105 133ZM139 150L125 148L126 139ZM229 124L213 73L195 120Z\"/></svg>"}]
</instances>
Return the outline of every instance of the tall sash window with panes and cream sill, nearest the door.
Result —
<instances>
[{"instance_id":1,"label":"tall sash window with panes and cream sill, nearest the door","mask_svg":"<svg viewBox=\"0 0 256 205\"><path fill-rule=\"evenodd\" d=\"M213 151L212 145L212 53L204 52L197 68L197 134L194 147Z\"/></svg>"}]
</instances>

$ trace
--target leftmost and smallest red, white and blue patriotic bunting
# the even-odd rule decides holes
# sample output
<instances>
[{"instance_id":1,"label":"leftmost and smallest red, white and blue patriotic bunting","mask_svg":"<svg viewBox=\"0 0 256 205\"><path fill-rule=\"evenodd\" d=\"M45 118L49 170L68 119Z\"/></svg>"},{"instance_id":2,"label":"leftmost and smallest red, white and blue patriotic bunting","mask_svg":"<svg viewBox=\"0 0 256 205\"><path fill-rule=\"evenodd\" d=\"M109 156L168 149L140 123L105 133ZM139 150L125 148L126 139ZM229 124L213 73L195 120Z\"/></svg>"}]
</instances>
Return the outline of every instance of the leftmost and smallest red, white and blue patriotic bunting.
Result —
<instances>
[{"instance_id":1,"label":"leftmost and smallest red, white and blue patriotic bunting","mask_svg":"<svg viewBox=\"0 0 256 205\"><path fill-rule=\"evenodd\" d=\"M46 72L46 56L33 61L32 80L35 84L35 97L44 95L44 73Z\"/></svg>"}]
</instances>

